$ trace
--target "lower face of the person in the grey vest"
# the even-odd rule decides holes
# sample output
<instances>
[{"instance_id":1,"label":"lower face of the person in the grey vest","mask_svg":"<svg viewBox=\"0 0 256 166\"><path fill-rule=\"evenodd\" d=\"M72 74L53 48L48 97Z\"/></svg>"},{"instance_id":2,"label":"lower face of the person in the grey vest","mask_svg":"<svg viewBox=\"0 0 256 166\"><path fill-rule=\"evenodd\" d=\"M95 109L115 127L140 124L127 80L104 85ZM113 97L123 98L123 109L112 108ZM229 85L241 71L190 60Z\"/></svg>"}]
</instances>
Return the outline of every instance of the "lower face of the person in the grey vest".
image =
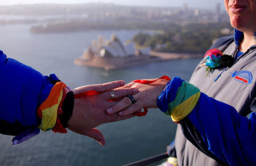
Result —
<instances>
[{"instance_id":1,"label":"lower face of the person in the grey vest","mask_svg":"<svg viewBox=\"0 0 256 166\"><path fill-rule=\"evenodd\" d=\"M249 32L256 29L256 0L224 0L232 27Z\"/></svg>"}]
</instances>

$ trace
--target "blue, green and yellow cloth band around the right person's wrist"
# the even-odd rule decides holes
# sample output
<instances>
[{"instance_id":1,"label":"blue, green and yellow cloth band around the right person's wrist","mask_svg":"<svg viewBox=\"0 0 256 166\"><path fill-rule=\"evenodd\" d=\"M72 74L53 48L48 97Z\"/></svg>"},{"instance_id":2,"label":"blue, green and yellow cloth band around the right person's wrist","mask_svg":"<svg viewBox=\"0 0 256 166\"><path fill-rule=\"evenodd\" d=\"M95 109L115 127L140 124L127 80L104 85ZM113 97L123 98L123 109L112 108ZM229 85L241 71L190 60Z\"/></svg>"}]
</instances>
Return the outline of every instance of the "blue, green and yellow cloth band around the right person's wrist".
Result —
<instances>
[{"instance_id":1,"label":"blue, green and yellow cloth band around the right person's wrist","mask_svg":"<svg viewBox=\"0 0 256 166\"><path fill-rule=\"evenodd\" d=\"M199 88L174 77L158 97L158 108L172 121L179 122L193 110L199 97Z\"/></svg>"}]
</instances>

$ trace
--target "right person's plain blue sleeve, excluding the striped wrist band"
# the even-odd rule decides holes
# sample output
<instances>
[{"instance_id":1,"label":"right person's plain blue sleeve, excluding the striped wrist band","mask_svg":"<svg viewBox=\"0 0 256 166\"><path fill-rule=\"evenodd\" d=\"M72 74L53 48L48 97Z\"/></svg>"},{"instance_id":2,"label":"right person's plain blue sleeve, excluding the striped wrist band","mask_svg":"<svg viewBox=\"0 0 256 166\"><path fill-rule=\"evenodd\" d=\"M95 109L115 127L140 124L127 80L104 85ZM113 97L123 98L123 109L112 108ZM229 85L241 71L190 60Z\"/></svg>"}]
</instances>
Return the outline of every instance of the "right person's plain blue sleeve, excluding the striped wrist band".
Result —
<instances>
[{"instance_id":1,"label":"right person's plain blue sleeve, excluding the striped wrist band","mask_svg":"<svg viewBox=\"0 0 256 166\"><path fill-rule=\"evenodd\" d=\"M185 137L208 156L229 165L256 165L255 110L242 117L232 106L201 93L180 124Z\"/></svg>"}]
</instances>

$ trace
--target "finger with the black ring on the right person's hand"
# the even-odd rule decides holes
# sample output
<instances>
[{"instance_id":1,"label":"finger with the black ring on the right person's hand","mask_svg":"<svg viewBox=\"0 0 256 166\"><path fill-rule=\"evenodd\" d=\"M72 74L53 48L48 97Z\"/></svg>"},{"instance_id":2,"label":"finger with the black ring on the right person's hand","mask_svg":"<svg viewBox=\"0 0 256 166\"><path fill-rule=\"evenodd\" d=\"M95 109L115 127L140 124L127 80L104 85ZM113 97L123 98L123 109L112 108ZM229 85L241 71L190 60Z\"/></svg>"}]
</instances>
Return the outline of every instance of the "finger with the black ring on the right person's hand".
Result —
<instances>
[{"instance_id":1,"label":"finger with the black ring on the right person's hand","mask_svg":"<svg viewBox=\"0 0 256 166\"><path fill-rule=\"evenodd\" d=\"M133 98L136 99L136 95L133 95ZM121 101L119 101L117 104L113 105L112 107L108 108L106 110L106 113L108 114L114 114L117 113L127 107L129 107L130 105L132 105L132 101L131 99L129 99L129 97L124 97ZM136 103L135 103L136 104ZM134 104L133 104L134 105ZM137 109L138 110L138 109Z\"/></svg>"}]
</instances>

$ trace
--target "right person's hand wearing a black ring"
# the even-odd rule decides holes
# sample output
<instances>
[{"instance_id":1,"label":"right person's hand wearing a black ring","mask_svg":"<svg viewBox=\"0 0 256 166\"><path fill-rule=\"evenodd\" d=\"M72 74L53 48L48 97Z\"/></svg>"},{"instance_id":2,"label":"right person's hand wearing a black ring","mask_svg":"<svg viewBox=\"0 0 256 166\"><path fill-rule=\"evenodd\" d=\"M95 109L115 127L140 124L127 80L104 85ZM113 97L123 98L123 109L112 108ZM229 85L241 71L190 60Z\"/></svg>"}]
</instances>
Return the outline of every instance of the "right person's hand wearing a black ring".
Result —
<instances>
[{"instance_id":1,"label":"right person's hand wearing a black ring","mask_svg":"<svg viewBox=\"0 0 256 166\"><path fill-rule=\"evenodd\" d=\"M154 80L154 79L147 79ZM119 116L128 116L135 112L141 112L142 108L157 108L157 100L160 93L166 87L168 80L159 79L152 84L141 84L131 82L122 88L138 88L139 93L133 95L136 103L132 104L131 100L128 97L123 98L119 103L108 108L106 112L108 114L118 113Z\"/></svg>"}]
</instances>

